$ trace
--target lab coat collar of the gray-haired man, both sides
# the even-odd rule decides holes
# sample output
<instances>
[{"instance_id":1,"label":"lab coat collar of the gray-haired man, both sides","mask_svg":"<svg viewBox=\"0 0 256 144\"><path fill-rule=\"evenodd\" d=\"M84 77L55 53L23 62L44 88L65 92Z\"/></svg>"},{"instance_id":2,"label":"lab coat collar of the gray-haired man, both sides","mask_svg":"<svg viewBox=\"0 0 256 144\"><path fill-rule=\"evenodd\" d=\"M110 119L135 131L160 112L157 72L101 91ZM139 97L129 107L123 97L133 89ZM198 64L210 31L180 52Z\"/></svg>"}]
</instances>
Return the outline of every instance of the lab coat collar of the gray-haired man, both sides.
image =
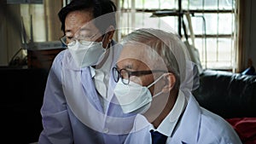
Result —
<instances>
[{"instance_id":1,"label":"lab coat collar of the gray-haired man, both sides","mask_svg":"<svg viewBox=\"0 0 256 144\"><path fill-rule=\"evenodd\" d=\"M173 139L174 143L197 143L200 124L201 108L198 102L195 100L194 95L189 95L188 105L185 108L181 121L179 122L179 124L177 124L177 130L174 131L171 139ZM143 129L149 132L149 130L153 129L153 126L143 115L137 114L131 133L138 132Z\"/></svg>"}]
</instances>

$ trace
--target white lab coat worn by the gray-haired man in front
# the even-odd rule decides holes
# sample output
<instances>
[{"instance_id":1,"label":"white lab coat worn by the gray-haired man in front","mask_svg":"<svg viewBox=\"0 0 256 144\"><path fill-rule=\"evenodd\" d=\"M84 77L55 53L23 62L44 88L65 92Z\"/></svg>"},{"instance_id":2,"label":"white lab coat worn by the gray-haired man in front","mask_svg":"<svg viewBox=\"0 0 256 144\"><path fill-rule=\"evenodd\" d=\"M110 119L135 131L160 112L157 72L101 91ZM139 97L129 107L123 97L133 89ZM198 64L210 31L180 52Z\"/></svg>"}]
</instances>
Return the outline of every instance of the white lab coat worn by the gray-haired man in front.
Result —
<instances>
[{"instance_id":1,"label":"white lab coat worn by the gray-haired man in front","mask_svg":"<svg viewBox=\"0 0 256 144\"><path fill-rule=\"evenodd\" d=\"M125 144L150 144L151 125L142 115L137 115L133 129L127 136ZM224 118L199 106L194 96L189 98L180 123L168 144L241 144L236 131Z\"/></svg>"}]
</instances>

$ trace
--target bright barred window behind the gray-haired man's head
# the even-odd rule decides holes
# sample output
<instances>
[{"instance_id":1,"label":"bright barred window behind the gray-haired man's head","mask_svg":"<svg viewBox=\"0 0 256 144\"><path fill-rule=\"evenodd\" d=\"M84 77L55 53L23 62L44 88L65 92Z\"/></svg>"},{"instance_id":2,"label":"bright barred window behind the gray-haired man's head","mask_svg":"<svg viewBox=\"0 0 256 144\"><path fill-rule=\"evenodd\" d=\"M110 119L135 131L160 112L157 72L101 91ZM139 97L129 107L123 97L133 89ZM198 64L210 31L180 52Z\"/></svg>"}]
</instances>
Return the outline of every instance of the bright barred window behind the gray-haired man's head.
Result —
<instances>
[{"instance_id":1,"label":"bright barred window behind the gray-haired man's head","mask_svg":"<svg viewBox=\"0 0 256 144\"><path fill-rule=\"evenodd\" d=\"M236 68L236 0L119 0L119 38L139 27L183 36L179 12L189 12L204 68ZM183 16L184 18L184 16Z\"/></svg>"}]
</instances>

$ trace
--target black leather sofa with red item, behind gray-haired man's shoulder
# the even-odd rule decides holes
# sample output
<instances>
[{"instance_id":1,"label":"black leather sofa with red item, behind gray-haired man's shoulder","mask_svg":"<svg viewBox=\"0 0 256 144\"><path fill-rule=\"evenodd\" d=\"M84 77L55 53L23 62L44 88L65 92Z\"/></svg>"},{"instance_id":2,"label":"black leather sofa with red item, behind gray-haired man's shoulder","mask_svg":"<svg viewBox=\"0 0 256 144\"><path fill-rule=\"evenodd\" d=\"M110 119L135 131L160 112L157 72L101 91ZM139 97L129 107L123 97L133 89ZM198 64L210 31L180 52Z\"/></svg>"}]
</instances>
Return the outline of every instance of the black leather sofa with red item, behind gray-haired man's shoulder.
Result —
<instances>
[{"instance_id":1,"label":"black leather sofa with red item, behind gray-haired man's shoulder","mask_svg":"<svg viewBox=\"0 0 256 144\"><path fill-rule=\"evenodd\" d=\"M193 93L201 107L226 119L244 144L256 143L256 76L205 70Z\"/></svg>"}]
</instances>

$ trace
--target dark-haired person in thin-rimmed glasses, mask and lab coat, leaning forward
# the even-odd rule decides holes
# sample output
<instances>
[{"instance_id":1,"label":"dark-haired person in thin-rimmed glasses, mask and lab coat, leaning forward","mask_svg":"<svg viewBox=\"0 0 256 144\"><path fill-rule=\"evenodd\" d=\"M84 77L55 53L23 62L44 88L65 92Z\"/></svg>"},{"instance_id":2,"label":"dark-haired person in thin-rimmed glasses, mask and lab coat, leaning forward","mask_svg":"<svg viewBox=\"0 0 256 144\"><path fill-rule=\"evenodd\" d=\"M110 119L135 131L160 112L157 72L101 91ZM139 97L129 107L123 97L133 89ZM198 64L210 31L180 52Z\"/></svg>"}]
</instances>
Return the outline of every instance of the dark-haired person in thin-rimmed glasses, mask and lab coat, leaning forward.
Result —
<instances>
[{"instance_id":1,"label":"dark-haired person in thin-rimmed glasses, mask and lab coat, leaning forward","mask_svg":"<svg viewBox=\"0 0 256 144\"><path fill-rule=\"evenodd\" d=\"M67 49L55 57L49 71L40 144L125 141L134 116L122 112L108 94L111 67L119 55L112 40L115 11L110 0L73 0L59 12L61 42Z\"/></svg>"}]
</instances>

